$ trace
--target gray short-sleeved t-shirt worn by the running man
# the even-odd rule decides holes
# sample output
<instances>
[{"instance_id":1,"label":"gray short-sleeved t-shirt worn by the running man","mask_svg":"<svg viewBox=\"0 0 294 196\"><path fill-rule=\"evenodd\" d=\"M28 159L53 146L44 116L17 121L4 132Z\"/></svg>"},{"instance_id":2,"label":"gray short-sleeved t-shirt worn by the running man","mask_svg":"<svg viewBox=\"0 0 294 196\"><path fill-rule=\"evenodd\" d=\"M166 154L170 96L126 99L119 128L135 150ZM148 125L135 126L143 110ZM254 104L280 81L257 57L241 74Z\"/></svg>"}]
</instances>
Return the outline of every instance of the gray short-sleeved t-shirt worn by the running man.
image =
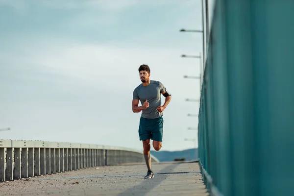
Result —
<instances>
[{"instance_id":1,"label":"gray short-sleeved t-shirt worn by the running man","mask_svg":"<svg viewBox=\"0 0 294 196\"><path fill-rule=\"evenodd\" d=\"M157 107L161 105L161 92L165 91L166 88L160 81L150 80L148 86L140 84L135 88L133 92L133 99L140 99L141 104L149 102L149 107L142 110L141 117L147 119L156 119L162 117L162 112L158 112Z\"/></svg>"}]
</instances>

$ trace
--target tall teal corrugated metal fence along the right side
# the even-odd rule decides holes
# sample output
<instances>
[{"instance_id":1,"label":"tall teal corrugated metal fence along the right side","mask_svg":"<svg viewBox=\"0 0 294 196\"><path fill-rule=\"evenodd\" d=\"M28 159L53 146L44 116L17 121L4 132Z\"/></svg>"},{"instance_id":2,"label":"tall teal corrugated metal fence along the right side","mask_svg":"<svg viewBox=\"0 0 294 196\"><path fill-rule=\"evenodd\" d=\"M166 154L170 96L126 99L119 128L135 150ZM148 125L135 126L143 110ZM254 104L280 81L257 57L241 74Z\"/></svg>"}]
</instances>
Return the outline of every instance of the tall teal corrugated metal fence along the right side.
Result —
<instances>
[{"instance_id":1,"label":"tall teal corrugated metal fence along the right side","mask_svg":"<svg viewBox=\"0 0 294 196\"><path fill-rule=\"evenodd\" d=\"M199 108L212 195L294 195L294 1L218 0Z\"/></svg>"}]
</instances>

